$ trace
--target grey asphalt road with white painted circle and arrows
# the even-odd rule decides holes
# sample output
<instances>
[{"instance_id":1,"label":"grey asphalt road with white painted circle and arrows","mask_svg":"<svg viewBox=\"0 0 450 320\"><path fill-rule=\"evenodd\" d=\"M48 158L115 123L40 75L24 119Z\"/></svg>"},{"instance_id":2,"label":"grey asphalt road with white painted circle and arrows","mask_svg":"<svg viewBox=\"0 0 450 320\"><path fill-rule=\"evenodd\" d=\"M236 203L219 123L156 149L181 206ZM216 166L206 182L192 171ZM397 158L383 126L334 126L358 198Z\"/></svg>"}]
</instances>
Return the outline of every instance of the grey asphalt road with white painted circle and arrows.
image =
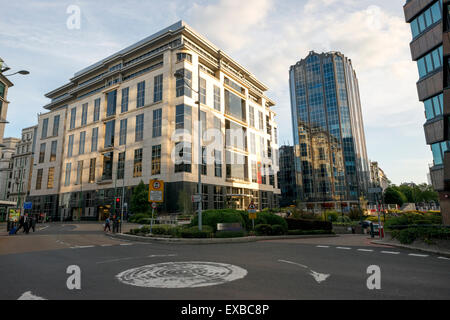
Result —
<instances>
[{"instance_id":1,"label":"grey asphalt road with white painted circle and arrows","mask_svg":"<svg viewBox=\"0 0 450 320\"><path fill-rule=\"evenodd\" d=\"M71 265L81 271L79 290L67 287ZM380 289L367 287L371 265L380 268ZM0 283L0 299L11 300L450 299L450 259L363 235L153 244L112 239L97 223L55 223L0 234Z\"/></svg>"}]
</instances>

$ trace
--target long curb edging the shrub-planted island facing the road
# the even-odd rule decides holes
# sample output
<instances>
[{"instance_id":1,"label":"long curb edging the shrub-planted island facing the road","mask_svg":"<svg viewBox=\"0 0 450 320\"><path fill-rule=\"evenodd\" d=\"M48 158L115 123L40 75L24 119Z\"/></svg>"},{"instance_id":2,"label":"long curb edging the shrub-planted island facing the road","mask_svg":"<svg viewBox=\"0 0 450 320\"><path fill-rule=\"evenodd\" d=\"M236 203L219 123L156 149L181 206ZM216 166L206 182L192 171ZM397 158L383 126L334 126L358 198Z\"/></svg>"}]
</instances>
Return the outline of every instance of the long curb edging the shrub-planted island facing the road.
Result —
<instances>
[{"instance_id":1,"label":"long curb edging the shrub-planted island facing the road","mask_svg":"<svg viewBox=\"0 0 450 320\"><path fill-rule=\"evenodd\" d=\"M221 244L221 243L246 243L257 242L262 240L284 240L284 239L308 239L308 238L332 238L338 237L337 235L301 235L301 236L254 236L254 237L240 237L240 238L213 238L213 239L188 239L188 238L153 238L153 237L141 237L129 234L106 234L105 236L128 240L128 241L140 241L140 242L159 242L159 243L172 243L172 244Z\"/></svg>"}]
</instances>

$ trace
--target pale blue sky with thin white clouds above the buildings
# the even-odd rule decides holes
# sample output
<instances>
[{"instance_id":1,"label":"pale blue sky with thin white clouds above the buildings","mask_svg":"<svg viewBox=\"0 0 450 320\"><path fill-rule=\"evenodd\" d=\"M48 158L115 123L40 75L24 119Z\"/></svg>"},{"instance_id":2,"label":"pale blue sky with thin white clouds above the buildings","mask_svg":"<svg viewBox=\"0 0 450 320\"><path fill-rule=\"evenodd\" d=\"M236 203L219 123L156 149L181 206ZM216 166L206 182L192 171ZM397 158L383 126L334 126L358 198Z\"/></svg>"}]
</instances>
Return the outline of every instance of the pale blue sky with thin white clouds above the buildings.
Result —
<instances>
[{"instance_id":1,"label":"pale blue sky with thin white clouds above the buildings","mask_svg":"<svg viewBox=\"0 0 450 320\"><path fill-rule=\"evenodd\" d=\"M246 67L276 102L280 144L292 144L289 68L312 50L340 51L359 79L370 160L395 184L427 182L432 163L411 60L405 0L0 0L0 57L15 75L5 137L20 137L74 73L179 20ZM80 28L67 27L72 6Z\"/></svg>"}]
</instances>

